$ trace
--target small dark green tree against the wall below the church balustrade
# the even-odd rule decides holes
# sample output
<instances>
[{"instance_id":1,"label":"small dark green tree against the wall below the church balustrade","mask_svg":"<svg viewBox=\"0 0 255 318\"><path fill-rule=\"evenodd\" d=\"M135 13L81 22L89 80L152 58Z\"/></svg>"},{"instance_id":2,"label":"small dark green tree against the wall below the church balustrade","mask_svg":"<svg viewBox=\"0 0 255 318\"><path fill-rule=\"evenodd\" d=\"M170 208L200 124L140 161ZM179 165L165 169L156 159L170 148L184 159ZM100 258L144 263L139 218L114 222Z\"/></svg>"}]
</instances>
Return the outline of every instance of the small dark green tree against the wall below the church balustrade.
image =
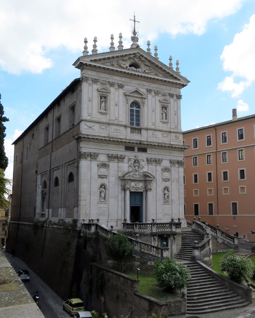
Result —
<instances>
[{"instance_id":1,"label":"small dark green tree against the wall below the church balustrade","mask_svg":"<svg viewBox=\"0 0 255 318\"><path fill-rule=\"evenodd\" d=\"M124 272L126 260L132 255L134 245L128 240L128 237L123 233L113 235L106 243L107 253L119 264L119 271Z\"/></svg>"}]
</instances>

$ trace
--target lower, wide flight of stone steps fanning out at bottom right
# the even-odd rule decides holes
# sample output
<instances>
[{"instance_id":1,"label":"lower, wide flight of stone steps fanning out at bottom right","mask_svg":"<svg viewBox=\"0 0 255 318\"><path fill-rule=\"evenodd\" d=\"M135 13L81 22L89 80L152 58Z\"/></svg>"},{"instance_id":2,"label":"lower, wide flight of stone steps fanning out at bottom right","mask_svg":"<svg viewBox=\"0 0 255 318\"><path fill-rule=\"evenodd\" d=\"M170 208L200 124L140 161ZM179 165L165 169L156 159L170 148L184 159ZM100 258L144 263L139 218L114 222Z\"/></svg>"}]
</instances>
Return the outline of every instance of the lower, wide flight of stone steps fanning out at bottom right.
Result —
<instances>
[{"instance_id":1,"label":"lower, wide flight of stone steps fanning out at bottom right","mask_svg":"<svg viewBox=\"0 0 255 318\"><path fill-rule=\"evenodd\" d=\"M190 270L187 314L205 314L244 307L248 301L230 291L195 261L183 262Z\"/></svg>"}]
</instances>

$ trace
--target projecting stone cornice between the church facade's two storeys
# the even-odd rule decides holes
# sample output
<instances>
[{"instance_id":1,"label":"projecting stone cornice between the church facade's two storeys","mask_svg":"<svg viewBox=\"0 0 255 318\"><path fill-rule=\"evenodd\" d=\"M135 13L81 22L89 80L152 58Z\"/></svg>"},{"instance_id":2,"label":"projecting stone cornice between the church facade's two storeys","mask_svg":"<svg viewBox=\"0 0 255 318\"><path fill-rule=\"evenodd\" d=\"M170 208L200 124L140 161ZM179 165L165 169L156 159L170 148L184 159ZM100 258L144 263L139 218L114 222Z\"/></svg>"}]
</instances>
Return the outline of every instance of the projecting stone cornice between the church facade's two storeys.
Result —
<instances>
[{"instance_id":1,"label":"projecting stone cornice between the church facade's two storeys","mask_svg":"<svg viewBox=\"0 0 255 318\"><path fill-rule=\"evenodd\" d=\"M188 149L188 146L184 145L173 145L173 144L162 144L162 143L155 143L155 142L146 142L146 141L136 141L136 140L128 140L128 139L118 139L118 138L110 138L110 137L101 137L101 136L92 136L92 135L85 135L85 134L79 134L74 137L78 142L93 142L93 141L99 141L104 142L106 144L111 145L112 143L119 143L123 144L123 146L146 146L147 148L151 147L157 147L158 149L164 149L164 150L173 150L173 151L180 151L184 152L186 149Z\"/></svg>"}]
</instances>

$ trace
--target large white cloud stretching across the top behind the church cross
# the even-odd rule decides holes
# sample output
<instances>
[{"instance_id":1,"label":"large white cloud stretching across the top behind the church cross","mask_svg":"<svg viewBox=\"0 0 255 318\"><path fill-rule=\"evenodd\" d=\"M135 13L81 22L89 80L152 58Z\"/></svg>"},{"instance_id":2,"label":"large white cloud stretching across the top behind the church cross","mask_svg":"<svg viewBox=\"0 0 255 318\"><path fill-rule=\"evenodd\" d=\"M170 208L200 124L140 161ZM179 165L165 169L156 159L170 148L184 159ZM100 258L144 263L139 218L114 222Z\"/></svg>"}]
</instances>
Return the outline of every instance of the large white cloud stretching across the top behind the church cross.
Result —
<instances>
[{"instance_id":1,"label":"large white cloud stretching across the top behind the church cross","mask_svg":"<svg viewBox=\"0 0 255 318\"><path fill-rule=\"evenodd\" d=\"M140 35L139 43L153 40L159 33L171 35L205 32L208 21L237 12L245 0L8 0L0 6L0 66L12 74L41 73L51 67L49 50L63 46L83 51L83 39L88 38L89 50L98 36L98 49L108 49L110 35L118 35L130 45L129 18L135 7ZM96 4L95 4L96 3ZM154 44L153 44L154 46ZM127 48L127 47L126 47Z\"/></svg>"}]
</instances>

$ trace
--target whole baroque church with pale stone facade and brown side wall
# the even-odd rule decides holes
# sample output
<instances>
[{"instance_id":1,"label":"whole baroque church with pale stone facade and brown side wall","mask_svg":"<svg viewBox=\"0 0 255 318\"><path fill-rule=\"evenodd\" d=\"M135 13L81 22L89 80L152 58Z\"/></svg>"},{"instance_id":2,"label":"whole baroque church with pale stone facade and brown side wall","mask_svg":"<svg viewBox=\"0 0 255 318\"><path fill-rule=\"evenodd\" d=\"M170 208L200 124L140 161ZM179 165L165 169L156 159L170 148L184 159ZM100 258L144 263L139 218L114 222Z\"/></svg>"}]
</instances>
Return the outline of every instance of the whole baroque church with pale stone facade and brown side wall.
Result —
<instances>
[{"instance_id":1,"label":"whole baroque church with pale stone facade and brown side wall","mask_svg":"<svg viewBox=\"0 0 255 318\"><path fill-rule=\"evenodd\" d=\"M139 47L89 54L81 71L13 143L12 221L170 222L184 218L181 88L189 81Z\"/></svg>"}]
</instances>

